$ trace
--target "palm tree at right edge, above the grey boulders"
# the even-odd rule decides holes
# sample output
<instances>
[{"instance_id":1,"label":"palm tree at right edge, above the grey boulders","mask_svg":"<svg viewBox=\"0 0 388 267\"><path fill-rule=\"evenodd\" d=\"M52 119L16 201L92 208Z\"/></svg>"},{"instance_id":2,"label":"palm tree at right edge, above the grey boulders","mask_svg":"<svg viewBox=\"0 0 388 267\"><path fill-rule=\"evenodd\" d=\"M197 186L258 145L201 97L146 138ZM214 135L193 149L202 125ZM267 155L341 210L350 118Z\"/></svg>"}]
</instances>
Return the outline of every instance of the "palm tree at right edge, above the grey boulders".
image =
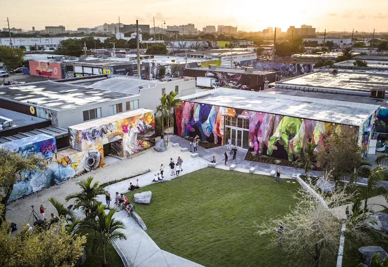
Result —
<instances>
[{"instance_id":1,"label":"palm tree at right edge, above the grey boulders","mask_svg":"<svg viewBox=\"0 0 388 267\"><path fill-rule=\"evenodd\" d=\"M388 179L388 169L385 167L376 166L369 172L368 184L365 188L365 203L364 210L367 210L368 198L372 194L382 194L388 201L388 190L381 185L381 181Z\"/></svg>"}]
</instances>

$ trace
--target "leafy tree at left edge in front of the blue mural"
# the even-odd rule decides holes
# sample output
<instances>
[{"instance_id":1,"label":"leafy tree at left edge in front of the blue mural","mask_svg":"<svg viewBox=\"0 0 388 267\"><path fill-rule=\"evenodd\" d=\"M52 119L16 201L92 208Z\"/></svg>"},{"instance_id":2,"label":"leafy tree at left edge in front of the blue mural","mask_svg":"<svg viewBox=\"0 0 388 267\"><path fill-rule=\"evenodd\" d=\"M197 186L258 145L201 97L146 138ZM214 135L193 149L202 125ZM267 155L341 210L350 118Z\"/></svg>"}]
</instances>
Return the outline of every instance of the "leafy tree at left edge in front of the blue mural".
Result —
<instances>
[{"instance_id":1,"label":"leafy tree at left edge in front of the blue mural","mask_svg":"<svg viewBox=\"0 0 388 267\"><path fill-rule=\"evenodd\" d=\"M1 46L0 46L1 47ZM5 220L6 207L17 179L27 169L36 169L39 158L24 156L10 150L0 149L0 222Z\"/></svg>"}]
</instances>

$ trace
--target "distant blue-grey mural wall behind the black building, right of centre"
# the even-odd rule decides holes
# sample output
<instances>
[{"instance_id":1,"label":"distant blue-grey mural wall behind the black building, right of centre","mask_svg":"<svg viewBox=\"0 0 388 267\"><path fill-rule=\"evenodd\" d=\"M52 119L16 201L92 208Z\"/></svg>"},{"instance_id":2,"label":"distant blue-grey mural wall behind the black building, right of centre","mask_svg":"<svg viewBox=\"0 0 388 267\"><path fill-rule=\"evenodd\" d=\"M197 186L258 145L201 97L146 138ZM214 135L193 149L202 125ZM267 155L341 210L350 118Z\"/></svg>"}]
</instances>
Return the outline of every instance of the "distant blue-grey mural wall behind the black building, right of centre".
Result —
<instances>
[{"instance_id":1,"label":"distant blue-grey mural wall behind the black building, right of centre","mask_svg":"<svg viewBox=\"0 0 388 267\"><path fill-rule=\"evenodd\" d=\"M313 71L313 64L299 64L299 63L283 63L275 62L274 66L272 62L253 62L253 68L255 70L275 70L280 71L284 76L297 76L306 74Z\"/></svg>"}]
</instances>

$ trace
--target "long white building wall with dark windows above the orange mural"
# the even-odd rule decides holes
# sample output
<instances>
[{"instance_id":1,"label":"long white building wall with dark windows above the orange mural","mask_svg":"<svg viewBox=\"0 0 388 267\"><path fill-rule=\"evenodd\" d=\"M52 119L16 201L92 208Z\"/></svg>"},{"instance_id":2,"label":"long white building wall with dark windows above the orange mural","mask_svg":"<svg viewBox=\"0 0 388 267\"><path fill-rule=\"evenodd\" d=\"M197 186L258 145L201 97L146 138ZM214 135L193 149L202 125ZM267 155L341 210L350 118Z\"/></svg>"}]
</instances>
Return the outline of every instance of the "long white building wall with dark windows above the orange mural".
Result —
<instances>
[{"instance_id":1,"label":"long white building wall with dark windows above the orange mural","mask_svg":"<svg viewBox=\"0 0 388 267\"><path fill-rule=\"evenodd\" d=\"M101 118L105 118L108 116L111 116L109 113L109 106L122 103L123 104L123 112L127 111L126 110L126 102L132 101L139 99L140 95L132 95L129 97L121 98L121 99L116 99L114 101L108 101L108 102L102 102L102 103L97 103L93 105L87 105L83 106L80 108L76 108L73 110L63 110L63 111L58 111L58 126L61 128L67 128L68 126L76 125L83 123L83 111L84 110L93 110L97 108L101 108ZM140 108L140 100L139 100L139 108Z\"/></svg>"}]
</instances>

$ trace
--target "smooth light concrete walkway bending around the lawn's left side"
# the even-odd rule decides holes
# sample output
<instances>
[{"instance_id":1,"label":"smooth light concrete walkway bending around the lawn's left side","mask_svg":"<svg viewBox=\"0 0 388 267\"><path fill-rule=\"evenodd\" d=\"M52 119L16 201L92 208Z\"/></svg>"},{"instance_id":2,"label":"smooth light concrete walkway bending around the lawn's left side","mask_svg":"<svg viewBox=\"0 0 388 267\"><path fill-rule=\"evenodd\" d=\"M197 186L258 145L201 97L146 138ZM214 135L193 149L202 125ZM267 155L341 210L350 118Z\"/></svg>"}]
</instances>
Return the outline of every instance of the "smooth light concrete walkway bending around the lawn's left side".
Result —
<instances>
[{"instance_id":1,"label":"smooth light concrete walkway bending around the lawn's left side","mask_svg":"<svg viewBox=\"0 0 388 267\"><path fill-rule=\"evenodd\" d=\"M182 163L181 175L197 171L199 169L208 166L208 162L200 157L196 157L190 160L184 160ZM164 179L165 181L176 178L177 176L170 176L169 168L165 168ZM139 175L134 178L130 178L125 181L105 187L111 194L111 198L114 201L115 192L125 193L128 191L129 183L136 184L136 179L139 179L141 187L147 186L152 182L154 174L159 169L152 170L150 173ZM159 182L161 183L161 182ZM105 197L98 196L99 201L105 203ZM133 200L128 200L133 203ZM152 199L151 199L152 201ZM151 237L141 228L132 217L127 215L125 210L120 211L119 208L111 203L111 207L115 207L116 212L113 217L117 220L122 220L125 228L121 230L126 236L127 240L116 241L113 246L119 253L126 267L201 267L192 261L174 255L170 252L161 250L158 245L152 240ZM147 224L147 222L145 221Z\"/></svg>"}]
</instances>

